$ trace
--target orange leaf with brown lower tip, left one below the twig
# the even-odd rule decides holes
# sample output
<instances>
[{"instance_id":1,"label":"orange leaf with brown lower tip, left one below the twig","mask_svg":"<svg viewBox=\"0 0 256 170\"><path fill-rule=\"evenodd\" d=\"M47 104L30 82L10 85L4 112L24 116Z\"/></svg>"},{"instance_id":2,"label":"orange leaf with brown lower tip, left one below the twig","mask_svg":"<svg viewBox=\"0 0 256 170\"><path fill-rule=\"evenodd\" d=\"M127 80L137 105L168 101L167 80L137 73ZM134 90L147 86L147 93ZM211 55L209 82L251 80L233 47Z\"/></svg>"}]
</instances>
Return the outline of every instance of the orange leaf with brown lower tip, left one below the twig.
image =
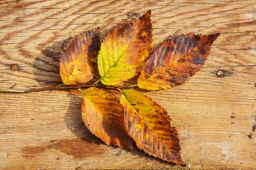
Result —
<instances>
[{"instance_id":1,"label":"orange leaf with brown lower tip, left one below the twig","mask_svg":"<svg viewBox=\"0 0 256 170\"><path fill-rule=\"evenodd\" d=\"M81 106L85 126L106 144L132 150L133 140L124 127L123 107L114 96L98 88L84 92Z\"/></svg>"}]
</instances>

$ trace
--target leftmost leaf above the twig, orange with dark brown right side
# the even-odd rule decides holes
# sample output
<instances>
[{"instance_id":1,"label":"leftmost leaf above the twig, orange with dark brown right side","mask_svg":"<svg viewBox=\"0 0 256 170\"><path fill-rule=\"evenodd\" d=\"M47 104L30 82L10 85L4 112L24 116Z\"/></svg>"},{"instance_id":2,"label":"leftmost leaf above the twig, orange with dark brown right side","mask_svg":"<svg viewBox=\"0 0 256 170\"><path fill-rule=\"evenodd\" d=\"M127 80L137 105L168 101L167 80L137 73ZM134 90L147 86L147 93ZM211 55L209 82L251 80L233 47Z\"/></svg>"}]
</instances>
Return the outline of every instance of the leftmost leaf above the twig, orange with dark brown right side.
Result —
<instances>
[{"instance_id":1,"label":"leftmost leaf above the twig, orange with dark brown right side","mask_svg":"<svg viewBox=\"0 0 256 170\"><path fill-rule=\"evenodd\" d=\"M98 30L76 35L61 51L60 74L65 85L83 85L93 78L99 51Z\"/></svg>"}]
</instances>

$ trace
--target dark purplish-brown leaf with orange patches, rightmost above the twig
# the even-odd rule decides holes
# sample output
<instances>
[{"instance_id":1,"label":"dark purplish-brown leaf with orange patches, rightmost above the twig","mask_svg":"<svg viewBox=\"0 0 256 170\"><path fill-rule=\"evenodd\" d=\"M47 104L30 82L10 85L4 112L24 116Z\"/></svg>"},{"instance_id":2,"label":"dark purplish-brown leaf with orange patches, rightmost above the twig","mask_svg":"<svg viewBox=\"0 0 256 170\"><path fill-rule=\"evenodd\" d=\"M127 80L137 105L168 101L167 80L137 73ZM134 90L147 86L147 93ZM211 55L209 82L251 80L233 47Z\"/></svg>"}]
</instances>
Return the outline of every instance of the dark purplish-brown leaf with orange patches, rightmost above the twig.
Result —
<instances>
[{"instance_id":1,"label":"dark purplish-brown leaf with orange patches, rightmost above the twig","mask_svg":"<svg viewBox=\"0 0 256 170\"><path fill-rule=\"evenodd\" d=\"M160 90L184 84L200 70L219 34L182 34L164 42L143 66L137 86Z\"/></svg>"}]
</instances>

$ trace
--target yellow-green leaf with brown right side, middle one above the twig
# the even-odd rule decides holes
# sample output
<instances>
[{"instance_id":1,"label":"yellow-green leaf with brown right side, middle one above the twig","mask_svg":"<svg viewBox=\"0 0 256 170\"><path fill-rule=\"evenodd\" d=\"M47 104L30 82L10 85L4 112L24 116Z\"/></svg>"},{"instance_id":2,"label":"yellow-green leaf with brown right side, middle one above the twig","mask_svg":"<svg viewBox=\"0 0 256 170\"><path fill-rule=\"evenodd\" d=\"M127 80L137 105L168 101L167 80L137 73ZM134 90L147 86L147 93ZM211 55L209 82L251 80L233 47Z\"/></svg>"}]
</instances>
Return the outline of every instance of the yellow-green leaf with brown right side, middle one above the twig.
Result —
<instances>
[{"instance_id":1,"label":"yellow-green leaf with brown right side, middle one above the twig","mask_svg":"<svg viewBox=\"0 0 256 170\"><path fill-rule=\"evenodd\" d=\"M143 68L153 47L150 14L117 26L103 40L97 63L104 85L124 82Z\"/></svg>"}]
</instances>

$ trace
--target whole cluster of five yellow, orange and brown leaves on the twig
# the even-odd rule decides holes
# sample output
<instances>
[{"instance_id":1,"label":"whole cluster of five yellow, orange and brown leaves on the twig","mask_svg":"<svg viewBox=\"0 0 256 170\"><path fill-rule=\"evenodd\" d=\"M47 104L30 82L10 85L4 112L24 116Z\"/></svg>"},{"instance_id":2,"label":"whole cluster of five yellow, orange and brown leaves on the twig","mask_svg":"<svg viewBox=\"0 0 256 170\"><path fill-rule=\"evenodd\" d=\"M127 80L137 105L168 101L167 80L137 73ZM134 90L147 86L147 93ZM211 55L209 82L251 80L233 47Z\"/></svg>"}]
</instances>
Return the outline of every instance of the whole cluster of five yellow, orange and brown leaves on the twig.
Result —
<instances>
[{"instance_id":1,"label":"whole cluster of five yellow, orange and brown leaves on the twig","mask_svg":"<svg viewBox=\"0 0 256 170\"><path fill-rule=\"evenodd\" d=\"M60 56L64 85L86 84L97 68L101 78L96 83L104 85L119 84L140 72L137 86L147 90L185 83L200 70L219 33L172 37L150 55L153 47L150 15L148 11L117 26L107 34L101 47L99 28L76 35ZM172 119L151 98L131 88L121 91L120 100L95 87L81 92L83 122L106 144L132 150L134 140L149 155L185 166L177 130L170 125Z\"/></svg>"}]
</instances>

